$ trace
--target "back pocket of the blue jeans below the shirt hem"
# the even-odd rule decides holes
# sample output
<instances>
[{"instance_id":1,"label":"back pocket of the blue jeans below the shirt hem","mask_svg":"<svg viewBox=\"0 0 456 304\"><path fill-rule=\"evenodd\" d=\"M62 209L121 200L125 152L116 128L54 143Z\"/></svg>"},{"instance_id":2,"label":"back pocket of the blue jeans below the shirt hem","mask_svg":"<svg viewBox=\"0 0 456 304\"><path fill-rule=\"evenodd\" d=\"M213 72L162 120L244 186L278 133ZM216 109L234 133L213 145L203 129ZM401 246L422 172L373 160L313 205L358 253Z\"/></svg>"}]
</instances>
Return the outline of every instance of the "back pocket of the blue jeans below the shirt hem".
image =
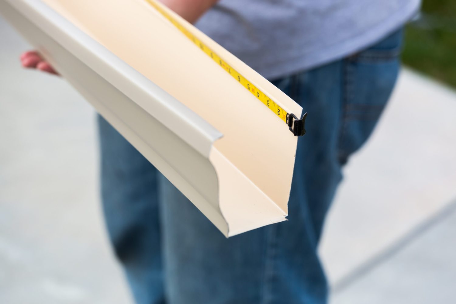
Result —
<instances>
[{"instance_id":1,"label":"back pocket of the blue jeans below the shirt hem","mask_svg":"<svg viewBox=\"0 0 456 304\"><path fill-rule=\"evenodd\" d=\"M343 62L343 101L339 161L368 139L393 91L399 73L402 30Z\"/></svg>"}]
</instances>

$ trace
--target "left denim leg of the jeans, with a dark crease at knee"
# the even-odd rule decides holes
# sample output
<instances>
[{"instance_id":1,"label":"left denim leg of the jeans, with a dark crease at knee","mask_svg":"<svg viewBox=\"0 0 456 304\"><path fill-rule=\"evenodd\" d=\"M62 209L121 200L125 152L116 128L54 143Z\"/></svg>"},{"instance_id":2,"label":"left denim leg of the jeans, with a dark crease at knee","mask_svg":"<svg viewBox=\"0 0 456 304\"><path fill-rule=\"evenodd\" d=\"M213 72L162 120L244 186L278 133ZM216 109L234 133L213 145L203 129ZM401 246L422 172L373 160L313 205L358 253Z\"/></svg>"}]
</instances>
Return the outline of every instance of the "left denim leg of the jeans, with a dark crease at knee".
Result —
<instances>
[{"instance_id":1,"label":"left denim leg of the jeans, with a dark crease at knee","mask_svg":"<svg viewBox=\"0 0 456 304\"><path fill-rule=\"evenodd\" d=\"M109 237L139 304L164 301L157 178L160 174L98 116L101 196Z\"/></svg>"}]
</instances>

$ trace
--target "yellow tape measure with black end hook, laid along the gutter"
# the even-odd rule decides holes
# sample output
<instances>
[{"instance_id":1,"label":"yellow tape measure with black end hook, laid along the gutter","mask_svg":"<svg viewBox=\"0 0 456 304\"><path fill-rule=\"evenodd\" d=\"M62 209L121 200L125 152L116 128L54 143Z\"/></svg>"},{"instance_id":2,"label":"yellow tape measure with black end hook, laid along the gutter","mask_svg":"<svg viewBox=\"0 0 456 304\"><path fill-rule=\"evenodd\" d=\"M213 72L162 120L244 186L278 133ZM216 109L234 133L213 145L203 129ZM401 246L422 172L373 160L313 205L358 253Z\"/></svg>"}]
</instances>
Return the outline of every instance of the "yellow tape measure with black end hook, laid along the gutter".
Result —
<instances>
[{"instance_id":1,"label":"yellow tape measure with black end hook, laid along the gutter","mask_svg":"<svg viewBox=\"0 0 456 304\"><path fill-rule=\"evenodd\" d=\"M252 93L259 101L264 103L272 112L274 112L280 119L282 119L291 132L296 136L302 136L306 133L304 129L304 121L306 119L307 113L303 115L302 119L298 119L295 114L287 113L283 108L281 108L277 103L259 90L252 82L247 80L242 76L238 71L233 69L227 62L225 62L217 53L213 52L208 46L206 46L201 40L194 36L190 31L181 25L176 19L171 17L166 10L164 10L160 5L158 5L155 0L146 0L150 5L152 5L158 12L161 13L166 19L168 19L176 28L181 31L185 36L187 36L195 45L197 45L207 56L211 57L214 62L217 62L220 67L222 67L226 72L228 72L234 79L236 79L240 84L244 86L250 93Z\"/></svg>"}]
</instances>

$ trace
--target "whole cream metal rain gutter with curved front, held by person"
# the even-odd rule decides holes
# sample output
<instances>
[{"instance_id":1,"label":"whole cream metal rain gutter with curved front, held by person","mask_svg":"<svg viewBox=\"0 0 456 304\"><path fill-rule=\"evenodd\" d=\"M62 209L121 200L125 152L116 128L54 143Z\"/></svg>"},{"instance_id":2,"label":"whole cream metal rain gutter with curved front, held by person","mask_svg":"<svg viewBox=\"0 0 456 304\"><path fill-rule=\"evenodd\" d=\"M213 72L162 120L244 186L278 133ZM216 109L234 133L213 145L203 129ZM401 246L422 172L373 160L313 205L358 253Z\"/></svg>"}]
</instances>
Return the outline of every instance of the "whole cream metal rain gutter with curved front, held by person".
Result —
<instances>
[{"instance_id":1,"label":"whole cream metal rain gutter with curved front, held by person","mask_svg":"<svg viewBox=\"0 0 456 304\"><path fill-rule=\"evenodd\" d=\"M0 12L225 236L285 220L297 139L145 1L0 0ZM288 112L301 114L263 77L191 30ZM150 42L163 37L160 47ZM170 53L176 49L177 59ZM248 113L228 107L233 98Z\"/></svg>"}]
</instances>

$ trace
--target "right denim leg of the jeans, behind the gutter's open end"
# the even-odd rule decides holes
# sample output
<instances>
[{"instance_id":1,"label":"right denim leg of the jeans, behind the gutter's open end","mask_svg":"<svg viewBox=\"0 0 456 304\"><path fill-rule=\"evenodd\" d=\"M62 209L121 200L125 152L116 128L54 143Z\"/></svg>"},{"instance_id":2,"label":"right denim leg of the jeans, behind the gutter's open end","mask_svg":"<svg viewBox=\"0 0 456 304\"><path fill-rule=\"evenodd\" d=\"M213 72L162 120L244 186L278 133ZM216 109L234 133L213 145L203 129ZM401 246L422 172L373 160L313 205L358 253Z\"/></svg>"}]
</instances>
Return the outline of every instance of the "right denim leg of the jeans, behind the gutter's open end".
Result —
<instances>
[{"instance_id":1,"label":"right denim leg of the jeans, behind the gutter's open end","mask_svg":"<svg viewBox=\"0 0 456 304\"><path fill-rule=\"evenodd\" d=\"M401 36L274 82L309 112L307 134L298 140L288 222L226 239L160 177L169 303L327 302L317 256L324 218L342 165L371 134L394 87Z\"/></svg>"}]
</instances>

